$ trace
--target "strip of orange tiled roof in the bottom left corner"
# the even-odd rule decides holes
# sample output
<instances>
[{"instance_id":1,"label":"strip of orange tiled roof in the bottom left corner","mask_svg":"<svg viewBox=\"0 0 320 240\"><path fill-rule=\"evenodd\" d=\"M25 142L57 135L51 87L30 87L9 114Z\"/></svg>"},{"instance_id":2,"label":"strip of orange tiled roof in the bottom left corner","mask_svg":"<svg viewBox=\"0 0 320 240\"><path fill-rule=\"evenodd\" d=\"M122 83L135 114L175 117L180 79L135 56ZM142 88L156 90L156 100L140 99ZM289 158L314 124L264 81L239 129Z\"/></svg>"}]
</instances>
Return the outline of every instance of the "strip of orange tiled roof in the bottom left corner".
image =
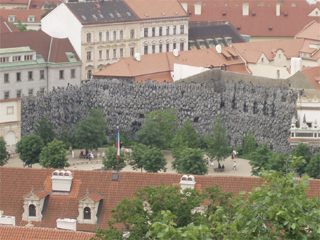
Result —
<instances>
[{"instance_id":1,"label":"strip of orange tiled roof in the bottom left corner","mask_svg":"<svg viewBox=\"0 0 320 240\"><path fill-rule=\"evenodd\" d=\"M89 240L94 237L94 233L66 231L58 229L48 229L39 227L11 227L0 225L0 239L12 240L47 240L47 239L61 239L61 240Z\"/></svg>"}]
</instances>

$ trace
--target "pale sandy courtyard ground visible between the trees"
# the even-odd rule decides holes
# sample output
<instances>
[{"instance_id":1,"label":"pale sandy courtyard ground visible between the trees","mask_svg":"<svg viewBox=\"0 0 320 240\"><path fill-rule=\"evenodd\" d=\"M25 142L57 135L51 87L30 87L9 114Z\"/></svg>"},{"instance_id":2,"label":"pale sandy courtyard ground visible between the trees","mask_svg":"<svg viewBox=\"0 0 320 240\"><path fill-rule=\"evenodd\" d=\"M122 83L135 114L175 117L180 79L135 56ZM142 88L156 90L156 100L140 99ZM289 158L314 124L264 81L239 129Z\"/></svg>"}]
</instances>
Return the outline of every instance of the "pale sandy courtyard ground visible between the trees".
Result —
<instances>
[{"instance_id":1,"label":"pale sandy courtyard ground visible between the trees","mask_svg":"<svg viewBox=\"0 0 320 240\"><path fill-rule=\"evenodd\" d=\"M105 150L105 148L98 149L101 153ZM171 151L163 150L165 159L167 160L167 173L176 173L174 169L172 169L172 161L174 160ZM95 158L91 161L88 159L79 159L80 150L75 150L75 158L73 159L71 154L69 154L68 161L70 163L70 167L67 169L70 170L98 170L103 166L101 157L97 159L97 151L93 151ZM214 161L214 166L208 166L209 171L208 175L231 175L231 176L251 176L251 166L249 161L246 159L235 159L237 162L237 171L232 170L234 160L231 159L231 156L228 157L225 161L221 162L221 165L224 164L225 171L224 172L214 172L213 168L218 167L218 162ZM19 155L15 154L13 158L10 158L8 163L5 165L6 167L23 167L22 161L19 159ZM33 168L41 168L41 166L37 164L32 165ZM126 172L140 172L140 170L133 170L131 166L126 166L122 171ZM144 172L144 171L143 171Z\"/></svg>"}]
</instances>

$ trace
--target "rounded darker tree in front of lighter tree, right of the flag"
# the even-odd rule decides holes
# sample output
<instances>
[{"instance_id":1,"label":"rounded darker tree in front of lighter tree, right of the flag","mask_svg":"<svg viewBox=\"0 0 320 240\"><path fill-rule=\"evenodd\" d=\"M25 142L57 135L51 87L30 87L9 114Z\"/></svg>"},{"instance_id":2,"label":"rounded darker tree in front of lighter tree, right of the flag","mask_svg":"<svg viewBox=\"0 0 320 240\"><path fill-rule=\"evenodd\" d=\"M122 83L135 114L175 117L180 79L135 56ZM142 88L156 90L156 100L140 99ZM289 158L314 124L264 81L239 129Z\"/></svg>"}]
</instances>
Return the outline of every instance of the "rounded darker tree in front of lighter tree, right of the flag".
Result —
<instances>
[{"instance_id":1,"label":"rounded darker tree in front of lighter tree, right of the flag","mask_svg":"<svg viewBox=\"0 0 320 240\"><path fill-rule=\"evenodd\" d=\"M136 141L146 146L162 148L165 145L163 132L156 122L146 121L141 129L136 132Z\"/></svg>"}]
</instances>

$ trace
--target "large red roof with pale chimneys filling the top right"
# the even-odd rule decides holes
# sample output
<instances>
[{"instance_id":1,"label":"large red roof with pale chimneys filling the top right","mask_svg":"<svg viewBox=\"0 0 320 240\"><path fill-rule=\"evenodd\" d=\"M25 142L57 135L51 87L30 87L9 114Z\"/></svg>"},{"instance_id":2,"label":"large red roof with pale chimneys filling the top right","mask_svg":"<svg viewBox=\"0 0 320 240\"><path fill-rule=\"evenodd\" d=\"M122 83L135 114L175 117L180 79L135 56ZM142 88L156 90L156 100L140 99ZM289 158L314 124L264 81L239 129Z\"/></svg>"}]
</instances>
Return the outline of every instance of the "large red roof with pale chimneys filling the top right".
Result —
<instances>
[{"instance_id":1,"label":"large red roof with pale chimneys filling the top right","mask_svg":"<svg viewBox=\"0 0 320 240\"><path fill-rule=\"evenodd\" d=\"M201 3L201 15L195 15L196 3ZM293 37L306 24L319 16L308 16L320 3L309 5L306 0L285 0L280 4L280 16L276 16L279 0L185 0L190 21L228 21L241 34L253 37ZM249 15L242 15L243 3L249 4Z\"/></svg>"}]
</instances>

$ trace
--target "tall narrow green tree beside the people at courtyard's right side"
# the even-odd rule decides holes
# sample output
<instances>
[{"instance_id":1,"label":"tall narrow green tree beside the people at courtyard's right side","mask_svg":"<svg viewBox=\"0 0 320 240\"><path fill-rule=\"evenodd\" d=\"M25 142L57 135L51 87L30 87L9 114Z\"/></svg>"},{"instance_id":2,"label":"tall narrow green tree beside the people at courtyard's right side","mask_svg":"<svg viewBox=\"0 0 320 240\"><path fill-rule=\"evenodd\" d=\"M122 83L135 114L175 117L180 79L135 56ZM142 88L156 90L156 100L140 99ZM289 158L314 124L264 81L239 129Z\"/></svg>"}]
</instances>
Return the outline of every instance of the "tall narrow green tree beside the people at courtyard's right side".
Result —
<instances>
[{"instance_id":1,"label":"tall narrow green tree beside the people at courtyard's right side","mask_svg":"<svg viewBox=\"0 0 320 240\"><path fill-rule=\"evenodd\" d=\"M227 128L221 124L220 116L213 125L211 136L207 136L206 141L208 145L207 155L210 158L215 158L220 162L229 156L229 135Z\"/></svg>"}]
</instances>

